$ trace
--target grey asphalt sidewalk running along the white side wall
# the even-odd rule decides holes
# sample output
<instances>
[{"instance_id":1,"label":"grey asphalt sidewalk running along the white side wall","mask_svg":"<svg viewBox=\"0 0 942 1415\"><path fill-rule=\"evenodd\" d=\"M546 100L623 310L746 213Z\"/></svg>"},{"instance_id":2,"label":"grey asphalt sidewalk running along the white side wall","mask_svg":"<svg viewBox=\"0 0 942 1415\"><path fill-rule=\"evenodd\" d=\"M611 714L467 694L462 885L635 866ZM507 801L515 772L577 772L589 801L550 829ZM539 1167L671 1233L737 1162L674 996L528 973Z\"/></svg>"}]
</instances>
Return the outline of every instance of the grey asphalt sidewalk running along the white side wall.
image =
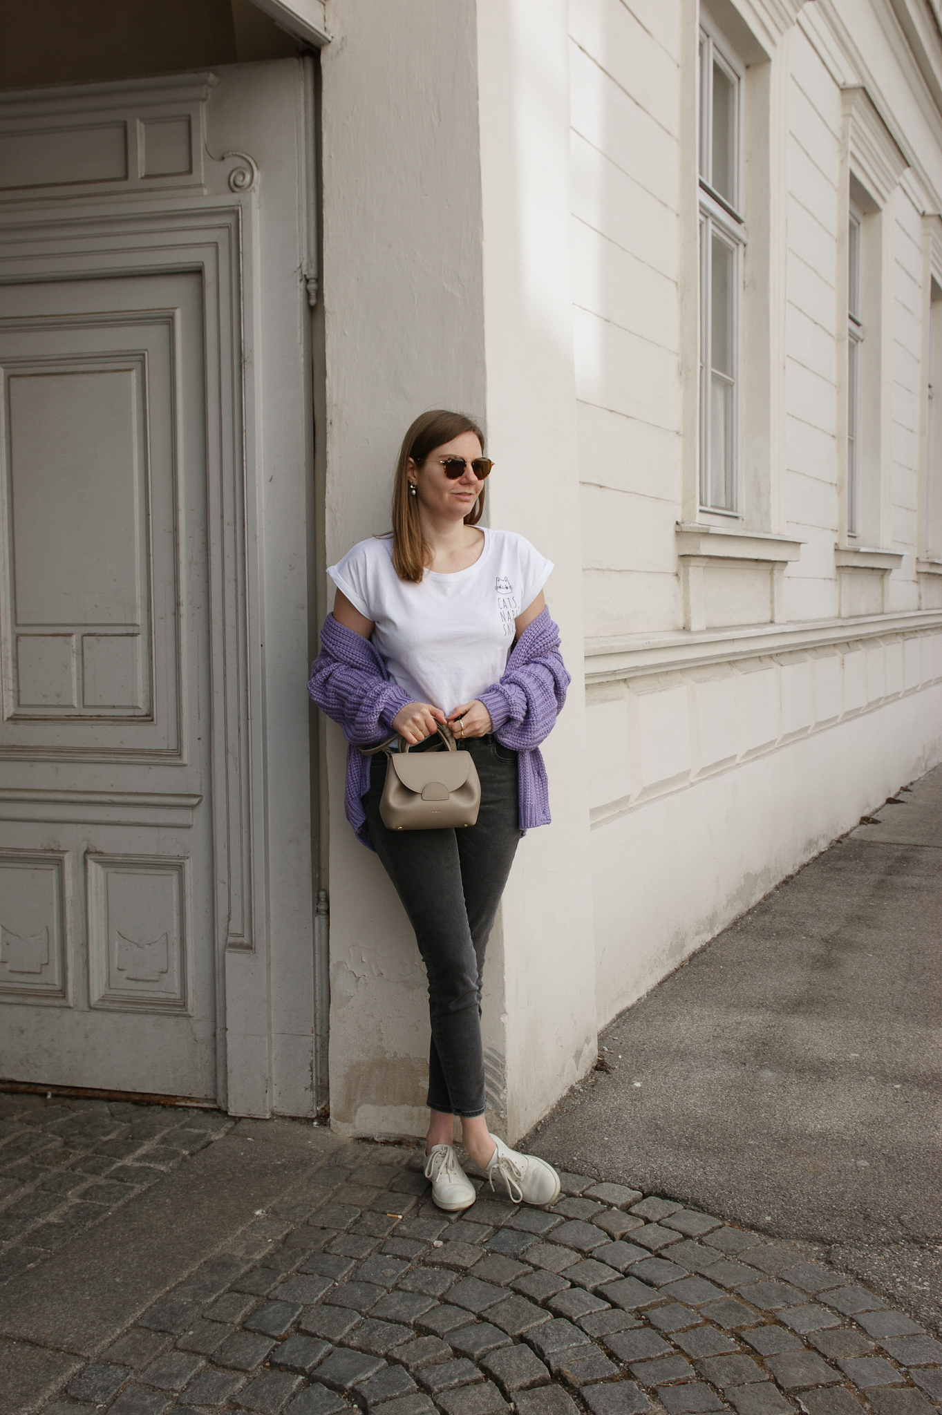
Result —
<instances>
[{"instance_id":1,"label":"grey asphalt sidewalk running along the white side wall","mask_svg":"<svg viewBox=\"0 0 942 1415\"><path fill-rule=\"evenodd\" d=\"M622 1013L530 1145L805 1240L939 1332L942 767L873 819Z\"/></svg>"}]
</instances>

